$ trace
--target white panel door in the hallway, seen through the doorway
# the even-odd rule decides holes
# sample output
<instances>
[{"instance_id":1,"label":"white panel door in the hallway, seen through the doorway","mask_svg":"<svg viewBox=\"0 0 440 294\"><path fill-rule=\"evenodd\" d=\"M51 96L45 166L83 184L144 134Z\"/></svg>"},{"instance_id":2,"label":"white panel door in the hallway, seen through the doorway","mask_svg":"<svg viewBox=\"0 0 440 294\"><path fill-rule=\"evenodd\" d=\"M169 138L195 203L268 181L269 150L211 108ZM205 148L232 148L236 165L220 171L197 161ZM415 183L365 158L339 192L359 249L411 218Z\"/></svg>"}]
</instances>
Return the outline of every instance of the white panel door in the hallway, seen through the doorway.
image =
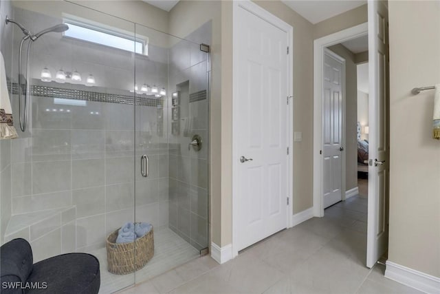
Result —
<instances>
[{"instance_id":1,"label":"white panel door in the hallway, seen through the doorway","mask_svg":"<svg viewBox=\"0 0 440 294\"><path fill-rule=\"evenodd\" d=\"M323 65L322 193L327 208L342 200L344 59L326 49Z\"/></svg>"}]
</instances>

